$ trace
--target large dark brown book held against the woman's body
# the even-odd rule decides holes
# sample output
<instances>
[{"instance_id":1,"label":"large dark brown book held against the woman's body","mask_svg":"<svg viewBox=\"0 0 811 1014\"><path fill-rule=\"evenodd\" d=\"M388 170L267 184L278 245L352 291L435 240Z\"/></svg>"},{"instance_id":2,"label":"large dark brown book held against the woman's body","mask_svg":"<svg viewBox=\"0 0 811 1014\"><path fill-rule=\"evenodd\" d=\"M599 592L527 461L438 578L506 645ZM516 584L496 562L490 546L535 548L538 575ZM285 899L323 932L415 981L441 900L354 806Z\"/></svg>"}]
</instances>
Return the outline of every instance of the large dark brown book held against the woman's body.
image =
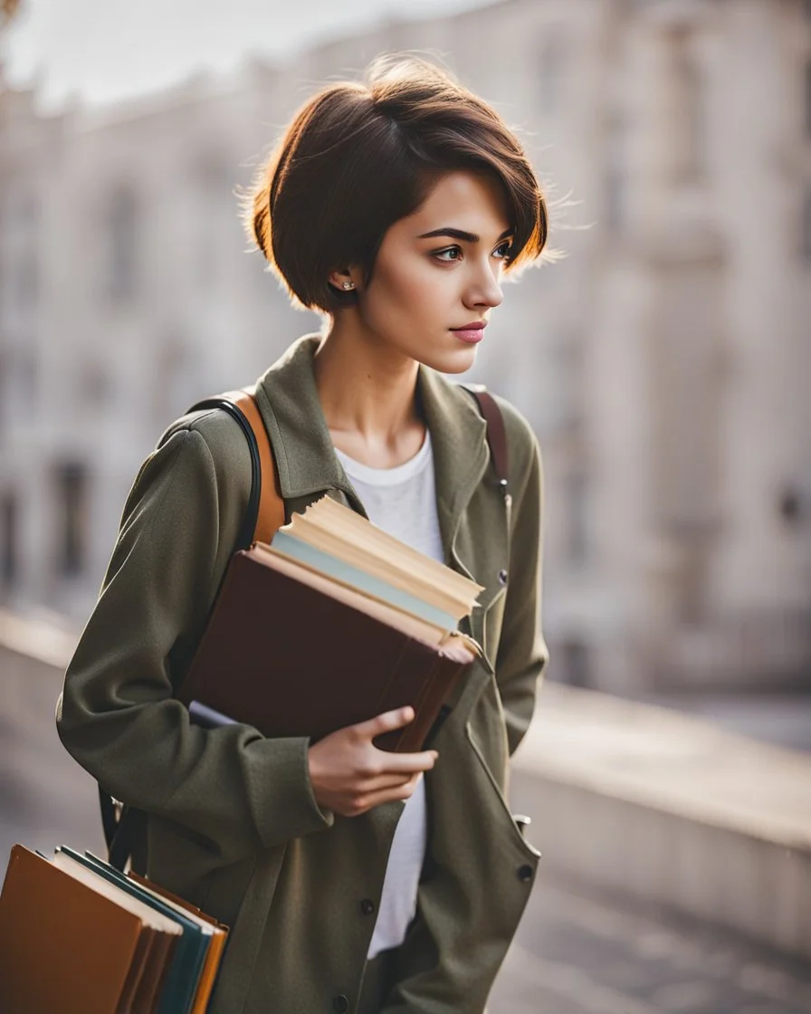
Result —
<instances>
[{"instance_id":1,"label":"large dark brown book held against the woman's body","mask_svg":"<svg viewBox=\"0 0 811 1014\"><path fill-rule=\"evenodd\" d=\"M269 737L313 740L411 705L415 720L376 742L420 749L473 653L453 635L429 643L415 636L422 621L306 572L261 547L236 554L177 697Z\"/></svg>"}]
</instances>

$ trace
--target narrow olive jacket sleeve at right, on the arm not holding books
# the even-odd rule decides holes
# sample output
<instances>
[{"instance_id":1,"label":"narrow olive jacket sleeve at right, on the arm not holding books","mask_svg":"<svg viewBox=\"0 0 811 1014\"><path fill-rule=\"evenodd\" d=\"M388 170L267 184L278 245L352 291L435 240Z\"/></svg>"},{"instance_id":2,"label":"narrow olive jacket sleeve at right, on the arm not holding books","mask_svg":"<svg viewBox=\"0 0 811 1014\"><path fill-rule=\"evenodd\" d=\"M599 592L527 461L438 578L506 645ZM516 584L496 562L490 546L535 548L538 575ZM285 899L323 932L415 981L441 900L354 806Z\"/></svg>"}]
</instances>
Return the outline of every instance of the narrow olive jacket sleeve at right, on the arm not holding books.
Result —
<instances>
[{"instance_id":1,"label":"narrow olive jacket sleeve at right, on the arm not holding books","mask_svg":"<svg viewBox=\"0 0 811 1014\"><path fill-rule=\"evenodd\" d=\"M529 728L548 661L540 630L543 488L534 433L509 403L499 403L510 445L513 505L507 598L495 668L512 754Z\"/></svg>"}]
</instances>

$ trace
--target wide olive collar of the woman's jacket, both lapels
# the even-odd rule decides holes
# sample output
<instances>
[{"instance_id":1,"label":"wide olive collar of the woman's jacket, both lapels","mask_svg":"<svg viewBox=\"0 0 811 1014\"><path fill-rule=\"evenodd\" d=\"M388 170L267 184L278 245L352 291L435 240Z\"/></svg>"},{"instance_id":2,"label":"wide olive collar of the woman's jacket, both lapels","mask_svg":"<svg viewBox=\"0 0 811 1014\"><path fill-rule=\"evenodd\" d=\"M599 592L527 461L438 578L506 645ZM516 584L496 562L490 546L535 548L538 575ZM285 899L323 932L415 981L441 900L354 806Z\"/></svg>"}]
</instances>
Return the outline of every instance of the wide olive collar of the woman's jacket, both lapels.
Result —
<instances>
[{"instance_id":1,"label":"wide olive collar of the woman's jacket, both lapels","mask_svg":"<svg viewBox=\"0 0 811 1014\"><path fill-rule=\"evenodd\" d=\"M294 342L261 377L256 403L273 444L282 496L342 490L363 513L335 453L315 386L313 356L320 342L320 335ZM431 432L439 524L449 556L461 512L487 467L486 424L469 394L427 366L420 366L418 396Z\"/></svg>"}]
</instances>

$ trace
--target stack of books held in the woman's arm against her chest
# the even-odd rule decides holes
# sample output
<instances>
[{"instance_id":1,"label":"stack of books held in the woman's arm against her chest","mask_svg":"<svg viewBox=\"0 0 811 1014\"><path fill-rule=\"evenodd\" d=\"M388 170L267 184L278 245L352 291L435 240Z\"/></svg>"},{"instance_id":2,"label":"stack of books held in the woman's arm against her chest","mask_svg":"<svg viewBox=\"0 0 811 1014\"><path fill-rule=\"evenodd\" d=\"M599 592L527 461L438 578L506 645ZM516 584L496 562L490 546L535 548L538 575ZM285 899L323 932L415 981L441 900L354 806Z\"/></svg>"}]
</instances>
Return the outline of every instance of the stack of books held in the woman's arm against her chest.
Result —
<instances>
[{"instance_id":1,"label":"stack of books held in the woman's arm against her chest","mask_svg":"<svg viewBox=\"0 0 811 1014\"><path fill-rule=\"evenodd\" d=\"M232 559L178 698L199 724L309 736L406 705L376 740L420 749L480 648L481 585L323 497Z\"/></svg>"}]
</instances>

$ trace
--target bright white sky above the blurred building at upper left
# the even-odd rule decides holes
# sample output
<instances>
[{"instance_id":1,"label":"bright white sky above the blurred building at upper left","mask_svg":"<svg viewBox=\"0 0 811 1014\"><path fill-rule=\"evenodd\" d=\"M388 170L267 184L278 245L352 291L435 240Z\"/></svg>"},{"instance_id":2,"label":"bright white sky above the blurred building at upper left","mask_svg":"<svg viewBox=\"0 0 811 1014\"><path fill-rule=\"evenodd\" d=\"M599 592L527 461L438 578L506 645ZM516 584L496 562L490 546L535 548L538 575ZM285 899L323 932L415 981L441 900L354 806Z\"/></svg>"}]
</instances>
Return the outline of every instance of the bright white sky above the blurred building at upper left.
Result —
<instances>
[{"instance_id":1,"label":"bright white sky above the blurred building at upper left","mask_svg":"<svg viewBox=\"0 0 811 1014\"><path fill-rule=\"evenodd\" d=\"M0 43L12 85L45 107L165 87L245 54L284 56L388 17L437 16L497 0L22 0Z\"/></svg>"}]
</instances>

